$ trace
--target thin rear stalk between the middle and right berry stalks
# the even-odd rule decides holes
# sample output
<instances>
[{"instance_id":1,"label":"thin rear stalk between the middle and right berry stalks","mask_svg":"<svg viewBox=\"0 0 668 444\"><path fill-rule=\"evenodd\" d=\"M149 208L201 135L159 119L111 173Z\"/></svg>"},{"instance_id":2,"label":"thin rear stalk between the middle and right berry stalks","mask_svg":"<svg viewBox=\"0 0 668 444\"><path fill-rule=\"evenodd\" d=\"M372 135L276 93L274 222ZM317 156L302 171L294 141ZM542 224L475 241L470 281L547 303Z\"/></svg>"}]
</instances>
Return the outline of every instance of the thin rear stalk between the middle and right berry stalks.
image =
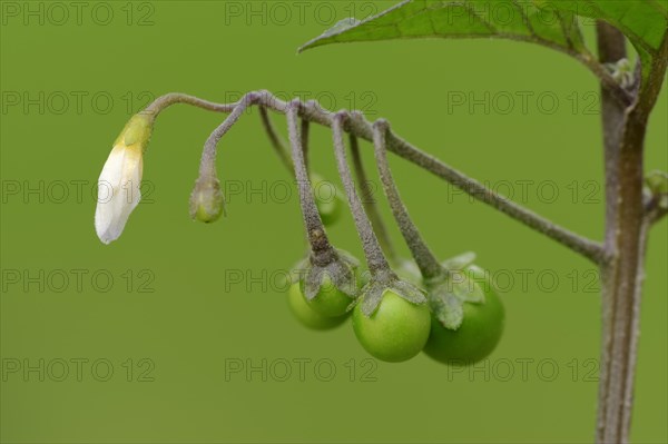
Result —
<instances>
[{"instance_id":1,"label":"thin rear stalk between the middle and right berry stalks","mask_svg":"<svg viewBox=\"0 0 668 444\"><path fill-rule=\"evenodd\" d=\"M392 239L387 234L387 229L385 228L385 223L381 217L379 208L376 206L376 200L373 197L373 190L370 187L370 181L366 176L366 170L364 169L364 162L362 161L362 155L360 152L360 142L354 135L350 135L348 137L350 146L351 146L351 157L353 159L353 170L355 171L355 179L360 186L360 194L362 195L362 204L364 205L364 210L366 215L371 219L371 225L379 238L379 243L381 244L381 248L385 251L385 256L391 264L396 264L399 258L396 256L396 251L392 246Z\"/></svg>"}]
</instances>

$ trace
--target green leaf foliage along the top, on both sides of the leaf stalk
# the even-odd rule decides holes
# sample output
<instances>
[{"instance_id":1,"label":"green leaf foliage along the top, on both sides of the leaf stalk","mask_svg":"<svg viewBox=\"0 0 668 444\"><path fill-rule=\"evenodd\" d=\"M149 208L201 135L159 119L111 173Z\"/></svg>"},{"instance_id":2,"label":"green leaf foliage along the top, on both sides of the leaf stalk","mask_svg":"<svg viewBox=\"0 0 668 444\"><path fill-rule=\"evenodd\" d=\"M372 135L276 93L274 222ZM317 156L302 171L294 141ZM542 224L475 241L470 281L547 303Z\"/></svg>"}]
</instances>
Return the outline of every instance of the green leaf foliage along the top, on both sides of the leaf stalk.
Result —
<instances>
[{"instance_id":1,"label":"green leaf foliage along the top, on both sides of the leaf stalk","mask_svg":"<svg viewBox=\"0 0 668 444\"><path fill-rule=\"evenodd\" d=\"M665 0L405 0L364 21L343 20L299 48L415 38L502 38L589 56L577 17L603 20L633 43L642 79L666 38Z\"/></svg>"}]
</instances>

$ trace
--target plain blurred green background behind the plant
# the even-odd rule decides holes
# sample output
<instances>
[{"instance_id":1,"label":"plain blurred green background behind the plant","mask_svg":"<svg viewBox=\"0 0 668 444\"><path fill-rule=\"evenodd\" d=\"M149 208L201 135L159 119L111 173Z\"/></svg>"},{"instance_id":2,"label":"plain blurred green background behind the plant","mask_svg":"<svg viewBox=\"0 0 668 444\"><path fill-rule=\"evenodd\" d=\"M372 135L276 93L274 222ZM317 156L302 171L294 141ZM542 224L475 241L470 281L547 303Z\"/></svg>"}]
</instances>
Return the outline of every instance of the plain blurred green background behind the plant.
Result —
<instances>
[{"instance_id":1,"label":"plain blurred green background behind the plant","mask_svg":"<svg viewBox=\"0 0 668 444\"><path fill-rule=\"evenodd\" d=\"M43 22L39 16L10 17L7 3L17 3L21 13L41 4ZM422 149L501 191L510 182L514 197L530 208L601 238L600 116L598 105L584 110L598 87L576 61L538 46L466 40L342 45L296 56L299 45L351 10L364 17L391 2L308 2L303 20L295 2L281 2L291 18L272 9L276 3L228 3L261 12L230 17L229 4L216 1L106 2L114 19L104 26L92 20L97 3L89 2L80 23L70 16L60 24L60 12L49 11L48 2L3 2L1 355L4 366L37 366L43 359L45 381L38 372L3 367L1 441L592 441L591 371L600 329L598 286L589 285L593 266L400 159L391 159L399 186L434 250L443 258L474 250L480 265L504 278L505 334L473 374L422 355L404 364L364 361L369 356L350 324L311 333L291 317L285 295L272 282L303 254L303 228L294 187L283 199L289 176L256 110L223 140L218 171L228 184L265 195L228 195L226 219L193 223L187 203L200 149L223 117L176 106L158 119L145 157L150 196L118 241L105 246L97 239L91 191L130 111L146 103L145 91L225 101L254 89L284 97L303 91L325 107L383 116ZM73 14L71 3L62 4ZM97 12L100 21L104 11ZM153 24L138 26L145 14ZM588 36L591 28L586 26ZM499 100L510 93L515 103L508 114L498 112L501 101L497 107L492 101L489 114L482 107L450 112L449 91L478 98L487 91ZM519 91L534 95L528 112ZM24 107L26 98L39 102L40 93L43 110ZM75 97L82 93L77 109ZM554 112L540 110L541 93L559 99ZM65 110L62 95L69 97ZM107 107L105 97L114 103ZM668 167L666 103L664 89L649 128L648 168ZM543 105L549 108L549 101ZM283 130L283 118L275 121ZM331 136L322 128L313 135L313 165L334 179ZM365 159L372 161L367 148L364 144ZM529 181L525 199L519 195L523 180ZM550 180L559 193L554 201L549 201L552 182L539 190ZM80 198L72 181L84 184ZM38 191L24 195L29 188ZM668 441L666 227L664 220L654 228L648 251L632 432L638 443ZM362 257L347 211L330 233L337 246ZM80 288L73 270L87 273ZM230 270L256 280L230 283ZM9 279L16 273L18 283ZM63 273L69 283L62 284ZM114 284L102 292L108 275ZM26 282L30 276L38 283ZM550 276L558 279L554 288ZM141 287L148 278L153 282ZM80 381L76 358L88 359ZM148 368L143 358L153 363L145 375L153 382L138 381ZM59 359L70 363L62 382L56 381ZM109 381L96 379L106 373L105 366L91 371L96 359L112 364ZM132 359L130 375L127 359ZM304 381L299 359L311 359ZM266 381L261 372L226 372L239 362L266 363ZM283 382L285 362L292 374ZM335 374L321 381L331 371L327 364ZM363 381L366 371L375 381Z\"/></svg>"}]
</instances>

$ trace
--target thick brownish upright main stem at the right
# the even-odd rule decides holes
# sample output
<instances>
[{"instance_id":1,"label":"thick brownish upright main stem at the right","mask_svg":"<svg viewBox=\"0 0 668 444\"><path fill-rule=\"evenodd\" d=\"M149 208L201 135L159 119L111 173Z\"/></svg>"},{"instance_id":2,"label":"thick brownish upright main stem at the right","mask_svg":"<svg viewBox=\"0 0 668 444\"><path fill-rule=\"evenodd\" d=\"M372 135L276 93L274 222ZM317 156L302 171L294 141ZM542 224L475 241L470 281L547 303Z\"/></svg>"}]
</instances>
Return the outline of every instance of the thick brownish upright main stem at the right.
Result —
<instances>
[{"instance_id":1,"label":"thick brownish upright main stem at the right","mask_svg":"<svg viewBox=\"0 0 668 444\"><path fill-rule=\"evenodd\" d=\"M625 38L599 22L597 39L601 62L626 57ZM625 108L601 85L606 157L607 260L601 263L601 377L597 442L628 443L633 404L645 250L651 217L645 213L644 146L647 120L666 73L665 39L650 75L633 103Z\"/></svg>"}]
</instances>

